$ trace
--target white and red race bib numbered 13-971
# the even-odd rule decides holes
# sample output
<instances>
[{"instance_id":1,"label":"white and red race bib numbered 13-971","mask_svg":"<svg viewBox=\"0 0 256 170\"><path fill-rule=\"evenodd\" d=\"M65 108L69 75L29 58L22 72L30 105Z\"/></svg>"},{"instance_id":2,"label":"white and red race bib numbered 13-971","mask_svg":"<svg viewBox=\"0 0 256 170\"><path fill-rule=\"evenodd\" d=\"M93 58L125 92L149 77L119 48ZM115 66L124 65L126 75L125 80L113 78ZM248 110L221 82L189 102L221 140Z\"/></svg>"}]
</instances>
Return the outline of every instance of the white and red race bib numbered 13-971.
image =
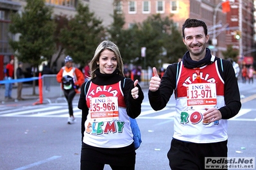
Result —
<instances>
[{"instance_id":1,"label":"white and red race bib numbered 13-971","mask_svg":"<svg viewBox=\"0 0 256 170\"><path fill-rule=\"evenodd\" d=\"M187 106L189 109L215 107L216 105L215 83L195 83L187 86Z\"/></svg>"}]
</instances>

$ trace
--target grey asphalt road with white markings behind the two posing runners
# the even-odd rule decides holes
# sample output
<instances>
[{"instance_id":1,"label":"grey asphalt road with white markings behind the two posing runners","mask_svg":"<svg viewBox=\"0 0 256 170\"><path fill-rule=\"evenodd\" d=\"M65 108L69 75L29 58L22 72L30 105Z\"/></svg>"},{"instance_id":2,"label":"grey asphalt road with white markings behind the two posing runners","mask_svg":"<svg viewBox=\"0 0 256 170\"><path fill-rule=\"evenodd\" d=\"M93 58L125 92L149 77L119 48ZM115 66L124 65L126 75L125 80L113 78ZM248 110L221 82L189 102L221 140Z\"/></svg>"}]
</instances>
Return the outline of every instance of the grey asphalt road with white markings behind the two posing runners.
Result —
<instances>
[{"instance_id":1,"label":"grey asphalt road with white markings behind the two posing runners","mask_svg":"<svg viewBox=\"0 0 256 170\"><path fill-rule=\"evenodd\" d=\"M239 84L242 109L228 121L228 156L256 156L256 83ZM250 87L250 89L248 89ZM142 114L137 118L142 144L136 151L137 170L170 169L167 151L173 135L172 97L166 109L154 112L144 89ZM0 105L0 169L80 169L80 111L73 105L77 122L67 125L65 101L33 105L30 100ZM105 169L110 169L105 166Z\"/></svg>"}]
</instances>

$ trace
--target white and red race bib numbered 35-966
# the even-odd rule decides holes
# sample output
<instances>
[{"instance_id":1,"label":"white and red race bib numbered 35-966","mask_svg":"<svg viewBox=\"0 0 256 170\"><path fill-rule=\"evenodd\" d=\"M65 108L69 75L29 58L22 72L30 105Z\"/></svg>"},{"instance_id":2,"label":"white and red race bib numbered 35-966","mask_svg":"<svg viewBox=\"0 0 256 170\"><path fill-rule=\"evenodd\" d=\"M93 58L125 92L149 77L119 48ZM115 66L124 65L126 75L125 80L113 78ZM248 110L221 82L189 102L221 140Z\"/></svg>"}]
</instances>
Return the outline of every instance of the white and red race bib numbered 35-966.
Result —
<instances>
[{"instance_id":1,"label":"white and red race bib numbered 35-966","mask_svg":"<svg viewBox=\"0 0 256 170\"><path fill-rule=\"evenodd\" d=\"M91 121L119 120L117 97L93 97L90 98L89 109Z\"/></svg>"}]
</instances>

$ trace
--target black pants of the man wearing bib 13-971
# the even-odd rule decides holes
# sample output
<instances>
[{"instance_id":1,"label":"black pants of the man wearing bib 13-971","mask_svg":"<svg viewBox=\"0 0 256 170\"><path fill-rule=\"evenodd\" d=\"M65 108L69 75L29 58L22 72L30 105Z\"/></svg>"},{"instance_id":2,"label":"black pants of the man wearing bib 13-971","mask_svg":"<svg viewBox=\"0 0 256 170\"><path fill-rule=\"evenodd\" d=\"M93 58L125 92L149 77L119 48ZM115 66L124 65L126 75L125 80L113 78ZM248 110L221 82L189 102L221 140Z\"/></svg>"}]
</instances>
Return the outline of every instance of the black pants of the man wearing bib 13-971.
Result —
<instances>
[{"instance_id":1,"label":"black pants of the man wearing bib 13-971","mask_svg":"<svg viewBox=\"0 0 256 170\"><path fill-rule=\"evenodd\" d=\"M205 169L205 157L227 157L228 141L219 143L187 143L177 139L171 141L167 153L172 170ZM208 170L208 169L207 169Z\"/></svg>"}]
</instances>

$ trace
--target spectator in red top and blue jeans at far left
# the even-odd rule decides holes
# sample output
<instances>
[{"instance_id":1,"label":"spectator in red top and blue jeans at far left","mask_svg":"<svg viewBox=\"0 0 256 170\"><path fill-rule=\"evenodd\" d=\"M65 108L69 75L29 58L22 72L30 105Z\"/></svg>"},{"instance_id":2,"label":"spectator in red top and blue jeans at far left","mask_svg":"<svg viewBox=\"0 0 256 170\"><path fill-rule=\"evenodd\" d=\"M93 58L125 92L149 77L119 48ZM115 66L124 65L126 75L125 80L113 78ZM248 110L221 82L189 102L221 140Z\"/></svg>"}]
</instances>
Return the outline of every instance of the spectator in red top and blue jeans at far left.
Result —
<instances>
[{"instance_id":1,"label":"spectator in red top and blue jeans at far left","mask_svg":"<svg viewBox=\"0 0 256 170\"><path fill-rule=\"evenodd\" d=\"M10 62L6 65L6 68L4 70L4 80L11 81L14 78L14 59L11 59ZM12 82L5 83L5 93L4 93L5 99L12 99Z\"/></svg>"}]
</instances>

